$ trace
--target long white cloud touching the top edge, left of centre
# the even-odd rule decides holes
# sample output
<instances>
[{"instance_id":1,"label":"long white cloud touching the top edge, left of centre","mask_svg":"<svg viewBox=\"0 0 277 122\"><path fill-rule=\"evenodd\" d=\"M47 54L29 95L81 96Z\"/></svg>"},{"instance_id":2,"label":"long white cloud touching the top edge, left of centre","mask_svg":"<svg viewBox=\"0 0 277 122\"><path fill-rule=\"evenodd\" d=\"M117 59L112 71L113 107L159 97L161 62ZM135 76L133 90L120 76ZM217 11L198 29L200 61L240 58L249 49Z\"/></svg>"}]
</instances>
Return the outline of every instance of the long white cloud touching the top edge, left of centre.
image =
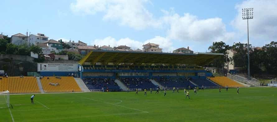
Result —
<instances>
[{"instance_id":1,"label":"long white cloud touching the top edge, left of centre","mask_svg":"<svg viewBox=\"0 0 277 122\"><path fill-rule=\"evenodd\" d=\"M147 27L159 28L161 22L153 18L145 4L148 0L77 0L71 3L71 10L83 15L104 12L104 20L117 20L120 25L127 25L136 30Z\"/></svg>"}]
</instances>

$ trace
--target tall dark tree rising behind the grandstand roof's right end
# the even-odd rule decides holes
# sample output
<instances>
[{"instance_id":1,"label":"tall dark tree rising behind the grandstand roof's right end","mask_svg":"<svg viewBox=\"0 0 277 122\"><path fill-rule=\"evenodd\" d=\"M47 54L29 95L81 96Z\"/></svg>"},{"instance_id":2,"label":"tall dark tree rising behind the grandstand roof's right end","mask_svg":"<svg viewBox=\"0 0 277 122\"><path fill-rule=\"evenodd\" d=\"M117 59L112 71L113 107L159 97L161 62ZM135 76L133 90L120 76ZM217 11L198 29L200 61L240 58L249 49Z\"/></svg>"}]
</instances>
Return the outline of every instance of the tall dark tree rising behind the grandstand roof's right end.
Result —
<instances>
[{"instance_id":1,"label":"tall dark tree rising behind the grandstand roof's right end","mask_svg":"<svg viewBox=\"0 0 277 122\"><path fill-rule=\"evenodd\" d=\"M217 59L215 59L211 64L211 66L217 67L223 67L225 64L228 64L228 62L232 61L231 57L228 57L228 52L231 47L227 44L225 44L223 41L220 42L213 42L213 45L209 46L209 50L211 53L223 53L224 56L221 56Z\"/></svg>"}]
</instances>

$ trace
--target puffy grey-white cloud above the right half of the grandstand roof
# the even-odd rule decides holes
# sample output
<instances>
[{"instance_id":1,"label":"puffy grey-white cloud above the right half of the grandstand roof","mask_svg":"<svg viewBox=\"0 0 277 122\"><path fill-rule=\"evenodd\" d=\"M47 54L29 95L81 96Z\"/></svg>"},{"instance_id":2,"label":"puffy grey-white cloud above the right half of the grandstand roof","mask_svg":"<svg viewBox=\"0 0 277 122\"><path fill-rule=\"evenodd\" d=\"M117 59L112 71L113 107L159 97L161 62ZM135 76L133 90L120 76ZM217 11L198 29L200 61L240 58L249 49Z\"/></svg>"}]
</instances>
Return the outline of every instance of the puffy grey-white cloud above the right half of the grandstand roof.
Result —
<instances>
[{"instance_id":1,"label":"puffy grey-white cloud above the right half of the grandstand roof","mask_svg":"<svg viewBox=\"0 0 277 122\"><path fill-rule=\"evenodd\" d=\"M214 41L232 39L234 33L227 32L221 18L198 19L197 16L185 13L183 16L163 11L164 21L170 25L168 37L182 41ZM171 13L171 14L168 14Z\"/></svg>"}]
</instances>

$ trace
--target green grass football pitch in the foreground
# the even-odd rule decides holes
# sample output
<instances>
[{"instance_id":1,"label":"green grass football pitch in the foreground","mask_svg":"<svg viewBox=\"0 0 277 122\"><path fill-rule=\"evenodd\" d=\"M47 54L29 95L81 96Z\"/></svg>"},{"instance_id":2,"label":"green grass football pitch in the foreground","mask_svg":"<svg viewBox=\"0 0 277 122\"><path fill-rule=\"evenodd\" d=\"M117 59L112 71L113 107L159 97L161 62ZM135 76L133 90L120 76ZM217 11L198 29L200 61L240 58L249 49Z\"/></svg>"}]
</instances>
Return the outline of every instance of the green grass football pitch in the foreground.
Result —
<instances>
[{"instance_id":1,"label":"green grass football pitch in the foreground","mask_svg":"<svg viewBox=\"0 0 277 122\"><path fill-rule=\"evenodd\" d=\"M241 88L199 91L185 99L184 91L152 94L94 92L10 95L15 122L276 122L277 88ZM8 108L0 109L0 121L12 122Z\"/></svg>"}]
</instances>

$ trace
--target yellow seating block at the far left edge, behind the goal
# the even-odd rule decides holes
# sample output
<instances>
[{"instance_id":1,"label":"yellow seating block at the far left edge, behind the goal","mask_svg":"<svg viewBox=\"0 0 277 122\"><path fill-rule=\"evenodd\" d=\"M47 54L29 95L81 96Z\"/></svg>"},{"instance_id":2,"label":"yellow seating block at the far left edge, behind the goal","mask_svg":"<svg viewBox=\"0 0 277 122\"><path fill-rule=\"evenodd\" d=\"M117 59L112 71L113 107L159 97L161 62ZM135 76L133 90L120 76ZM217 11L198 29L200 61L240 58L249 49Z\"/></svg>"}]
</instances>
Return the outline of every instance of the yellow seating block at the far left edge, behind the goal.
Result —
<instances>
[{"instance_id":1,"label":"yellow seating block at the far left edge, behind the goal","mask_svg":"<svg viewBox=\"0 0 277 122\"><path fill-rule=\"evenodd\" d=\"M0 91L11 94L40 93L35 77L0 77Z\"/></svg>"}]
</instances>

